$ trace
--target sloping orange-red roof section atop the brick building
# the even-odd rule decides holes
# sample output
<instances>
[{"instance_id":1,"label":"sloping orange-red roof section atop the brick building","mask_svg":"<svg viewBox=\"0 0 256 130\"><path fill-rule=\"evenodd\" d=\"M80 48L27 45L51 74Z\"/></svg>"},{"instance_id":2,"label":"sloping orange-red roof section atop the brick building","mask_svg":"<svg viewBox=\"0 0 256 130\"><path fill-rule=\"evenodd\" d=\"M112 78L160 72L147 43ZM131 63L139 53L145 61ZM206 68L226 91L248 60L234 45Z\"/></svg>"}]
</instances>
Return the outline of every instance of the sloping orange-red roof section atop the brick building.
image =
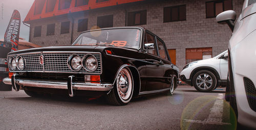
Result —
<instances>
[{"instance_id":1,"label":"sloping orange-red roof section atop the brick building","mask_svg":"<svg viewBox=\"0 0 256 130\"><path fill-rule=\"evenodd\" d=\"M24 22L145 0L35 0Z\"/></svg>"}]
</instances>

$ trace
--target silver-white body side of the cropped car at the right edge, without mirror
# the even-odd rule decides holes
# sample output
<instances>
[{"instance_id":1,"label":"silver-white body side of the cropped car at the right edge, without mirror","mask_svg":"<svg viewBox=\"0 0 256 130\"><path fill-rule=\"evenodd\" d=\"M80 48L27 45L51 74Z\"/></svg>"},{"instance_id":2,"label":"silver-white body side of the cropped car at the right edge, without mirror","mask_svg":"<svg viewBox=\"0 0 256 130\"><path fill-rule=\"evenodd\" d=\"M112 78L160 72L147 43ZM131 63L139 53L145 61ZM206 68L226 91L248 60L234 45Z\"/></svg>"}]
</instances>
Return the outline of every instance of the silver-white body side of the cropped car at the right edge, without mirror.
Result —
<instances>
[{"instance_id":1,"label":"silver-white body side of the cropped car at the right edge, without mirror","mask_svg":"<svg viewBox=\"0 0 256 130\"><path fill-rule=\"evenodd\" d=\"M256 3L248 7L247 3L248 0L245 0L228 48L236 93L238 122L256 128L256 112L249 106L244 85L244 77L251 80L254 87L256 85Z\"/></svg>"}]
</instances>

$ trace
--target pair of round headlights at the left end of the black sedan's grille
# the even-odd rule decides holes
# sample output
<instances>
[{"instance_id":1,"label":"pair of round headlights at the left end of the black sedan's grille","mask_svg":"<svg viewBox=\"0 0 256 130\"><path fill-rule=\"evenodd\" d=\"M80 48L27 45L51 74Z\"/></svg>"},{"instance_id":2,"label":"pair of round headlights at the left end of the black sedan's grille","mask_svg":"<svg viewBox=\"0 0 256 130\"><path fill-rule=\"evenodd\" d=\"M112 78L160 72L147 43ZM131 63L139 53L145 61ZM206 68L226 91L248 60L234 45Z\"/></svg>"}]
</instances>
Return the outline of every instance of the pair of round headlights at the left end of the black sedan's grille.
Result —
<instances>
[{"instance_id":1,"label":"pair of round headlights at the left end of the black sedan's grille","mask_svg":"<svg viewBox=\"0 0 256 130\"><path fill-rule=\"evenodd\" d=\"M22 57L17 56L9 58L9 65L11 70L23 70L25 67L25 61Z\"/></svg>"}]
</instances>

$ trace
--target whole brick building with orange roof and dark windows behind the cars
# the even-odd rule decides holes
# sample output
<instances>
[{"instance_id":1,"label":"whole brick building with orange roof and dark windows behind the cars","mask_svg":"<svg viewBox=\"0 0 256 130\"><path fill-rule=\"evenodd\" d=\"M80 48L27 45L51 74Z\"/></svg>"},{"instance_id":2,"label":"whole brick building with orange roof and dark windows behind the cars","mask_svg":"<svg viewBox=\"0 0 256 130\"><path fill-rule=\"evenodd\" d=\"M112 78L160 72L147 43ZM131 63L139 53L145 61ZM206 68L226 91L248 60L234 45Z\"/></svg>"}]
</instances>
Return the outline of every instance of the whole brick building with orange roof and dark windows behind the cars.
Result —
<instances>
[{"instance_id":1,"label":"whole brick building with orange roof and dark windows behind the cars","mask_svg":"<svg viewBox=\"0 0 256 130\"><path fill-rule=\"evenodd\" d=\"M216 15L242 10L242 0L35 0L24 22L29 41L41 46L70 45L96 28L140 26L162 38L172 62L210 58L227 49L231 31Z\"/></svg>"}]
</instances>

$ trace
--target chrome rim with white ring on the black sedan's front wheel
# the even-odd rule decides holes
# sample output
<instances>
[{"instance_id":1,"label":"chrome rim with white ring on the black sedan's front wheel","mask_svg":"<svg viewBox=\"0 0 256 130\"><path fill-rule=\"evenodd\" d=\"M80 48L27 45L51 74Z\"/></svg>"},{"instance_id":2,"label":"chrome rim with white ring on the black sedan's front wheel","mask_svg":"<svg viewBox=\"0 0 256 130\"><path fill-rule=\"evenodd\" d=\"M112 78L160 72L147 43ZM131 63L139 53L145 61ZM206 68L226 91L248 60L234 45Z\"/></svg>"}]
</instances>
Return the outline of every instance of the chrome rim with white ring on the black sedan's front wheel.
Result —
<instances>
[{"instance_id":1,"label":"chrome rim with white ring on the black sedan's front wheel","mask_svg":"<svg viewBox=\"0 0 256 130\"><path fill-rule=\"evenodd\" d=\"M129 102L133 91L133 81L130 71L123 68L117 77L117 91L123 102Z\"/></svg>"}]
</instances>

